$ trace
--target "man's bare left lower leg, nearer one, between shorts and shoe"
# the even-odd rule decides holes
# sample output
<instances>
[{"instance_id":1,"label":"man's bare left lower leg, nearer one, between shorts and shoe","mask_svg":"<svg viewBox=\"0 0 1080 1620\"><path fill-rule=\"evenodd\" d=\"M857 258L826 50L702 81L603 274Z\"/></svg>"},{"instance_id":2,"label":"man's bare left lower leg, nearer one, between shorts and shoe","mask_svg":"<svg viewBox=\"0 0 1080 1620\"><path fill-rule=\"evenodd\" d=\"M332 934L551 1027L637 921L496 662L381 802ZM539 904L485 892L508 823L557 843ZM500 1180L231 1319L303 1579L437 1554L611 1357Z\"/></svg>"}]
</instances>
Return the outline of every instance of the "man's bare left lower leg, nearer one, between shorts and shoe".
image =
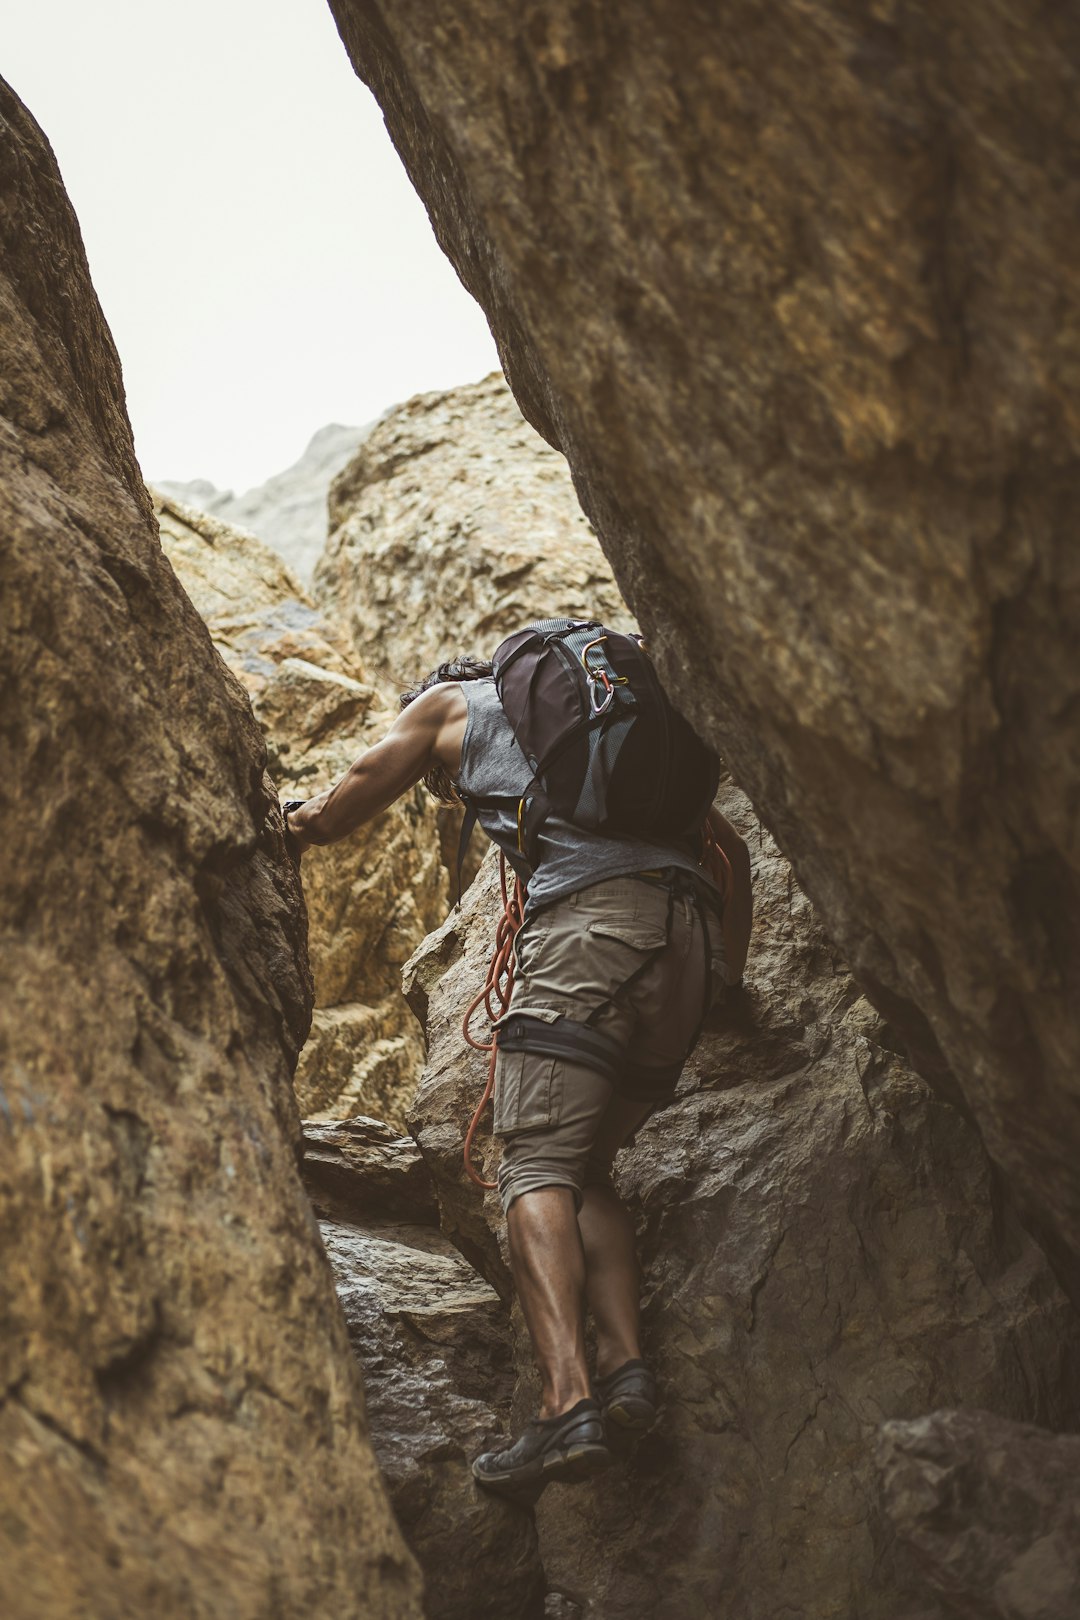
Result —
<instances>
[{"instance_id":1,"label":"man's bare left lower leg, nearer one, between shorts and shoe","mask_svg":"<svg viewBox=\"0 0 1080 1620\"><path fill-rule=\"evenodd\" d=\"M521 1192L507 1213L513 1286L541 1375L541 1418L589 1393L585 1362L585 1252L570 1187Z\"/></svg>"}]
</instances>

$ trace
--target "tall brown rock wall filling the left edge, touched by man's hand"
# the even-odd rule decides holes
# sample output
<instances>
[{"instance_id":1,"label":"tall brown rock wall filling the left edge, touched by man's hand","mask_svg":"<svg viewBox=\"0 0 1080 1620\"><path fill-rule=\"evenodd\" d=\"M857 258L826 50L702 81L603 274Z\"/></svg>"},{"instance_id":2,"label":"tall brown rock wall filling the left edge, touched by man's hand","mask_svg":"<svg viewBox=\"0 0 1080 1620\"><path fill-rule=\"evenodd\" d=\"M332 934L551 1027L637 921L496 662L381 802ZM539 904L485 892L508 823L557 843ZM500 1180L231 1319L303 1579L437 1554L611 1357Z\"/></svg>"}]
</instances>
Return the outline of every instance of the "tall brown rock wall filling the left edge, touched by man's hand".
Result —
<instances>
[{"instance_id":1,"label":"tall brown rock wall filling the left edge, touched by man's hand","mask_svg":"<svg viewBox=\"0 0 1080 1620\"><path fill-rule=\"evenodd\" d=\"M0 1612L416 1617L296 1174L266 750L0 83Z\"/></svg>"}]
</instances>

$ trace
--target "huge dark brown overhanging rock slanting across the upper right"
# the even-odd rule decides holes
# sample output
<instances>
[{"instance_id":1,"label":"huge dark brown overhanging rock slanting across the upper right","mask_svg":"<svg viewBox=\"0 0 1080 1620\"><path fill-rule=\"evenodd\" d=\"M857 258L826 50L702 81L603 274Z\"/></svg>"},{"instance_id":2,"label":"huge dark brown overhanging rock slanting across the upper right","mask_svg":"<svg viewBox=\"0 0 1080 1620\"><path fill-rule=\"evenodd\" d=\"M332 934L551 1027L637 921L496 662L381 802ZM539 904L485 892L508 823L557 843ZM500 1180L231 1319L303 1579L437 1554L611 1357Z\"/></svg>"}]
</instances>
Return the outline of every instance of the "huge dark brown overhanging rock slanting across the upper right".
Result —
<instances>
[{"instance_id":1,"label":"huge dark brown overhanging rock slanting across the upper right","mask_svg":"<svg viewBox=\"0 0 1080 1620\"><path fill-rule=\"evenodd\" d=\"M674 692L1080 1286L1080 34L332 0Z\"/></svg>"}]
</instances>

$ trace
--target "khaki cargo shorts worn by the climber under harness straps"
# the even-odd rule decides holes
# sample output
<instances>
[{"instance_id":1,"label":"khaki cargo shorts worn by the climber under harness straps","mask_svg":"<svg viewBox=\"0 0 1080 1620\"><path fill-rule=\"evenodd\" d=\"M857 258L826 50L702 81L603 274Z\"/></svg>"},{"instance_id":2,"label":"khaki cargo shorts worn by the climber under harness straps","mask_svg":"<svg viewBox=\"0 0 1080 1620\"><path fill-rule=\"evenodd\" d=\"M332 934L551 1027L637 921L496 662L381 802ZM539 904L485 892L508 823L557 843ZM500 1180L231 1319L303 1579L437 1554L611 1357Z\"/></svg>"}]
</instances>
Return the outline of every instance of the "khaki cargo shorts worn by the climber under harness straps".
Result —
<instances>
[{"instance_id":1,"label":"khaki cargo shorts worn by the climber under harness straps","mask_svg":"<svg viewBox=\"0 0 1080 1620\"><path fill-rule=\"evenodd\" d=\"M521 1192L606 1179L593 1147L612 1100L638 1123L670 1102L722 987L724 946L709 891L690 873L607 878L536 912L517 938L507 1030L526 1016L607 1037L607 1064L580 1053L499 1051L495 1136L504 1210ZM533 1027L536 1024L533 1022ZM576 1034L576 1030L572 1030ZM607 1068L607 1072L602 1069ZM609 1134L609 1132L606 1132Z\"/></svg>"}]
</instances>

